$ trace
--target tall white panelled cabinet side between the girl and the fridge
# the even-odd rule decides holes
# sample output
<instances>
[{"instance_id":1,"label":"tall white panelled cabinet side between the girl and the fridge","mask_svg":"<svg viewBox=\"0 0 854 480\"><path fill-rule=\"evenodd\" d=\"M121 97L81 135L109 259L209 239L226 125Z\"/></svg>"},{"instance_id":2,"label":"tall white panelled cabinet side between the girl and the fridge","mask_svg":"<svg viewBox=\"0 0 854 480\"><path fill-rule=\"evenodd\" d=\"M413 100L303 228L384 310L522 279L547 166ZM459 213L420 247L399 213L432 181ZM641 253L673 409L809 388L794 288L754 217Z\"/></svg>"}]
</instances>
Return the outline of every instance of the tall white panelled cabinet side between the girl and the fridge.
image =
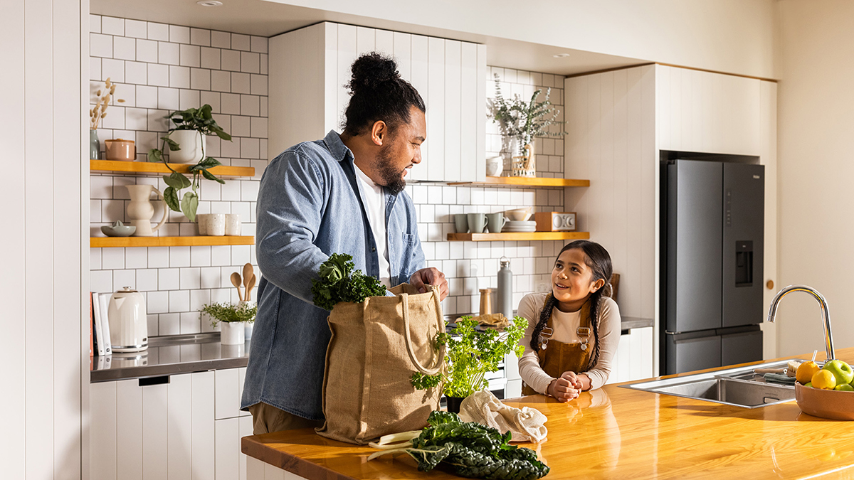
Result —
<instances>
[{"instance_id":1,"label":"tall white panelled cabinet side between the girl and the fridge","mask_svg":"<svg viewBox=\"0 0 854 480\"><path fill-rule=\"evenodd\" d=\"M564 80L564 173L590 180L588 188L567 189L566 209L611 254L620 274L620 313L657 323L655 79L655 67L645 66ZM654 337L633 338L620 349L645 352L654 367Z\"/></svg>"}]
</instances>

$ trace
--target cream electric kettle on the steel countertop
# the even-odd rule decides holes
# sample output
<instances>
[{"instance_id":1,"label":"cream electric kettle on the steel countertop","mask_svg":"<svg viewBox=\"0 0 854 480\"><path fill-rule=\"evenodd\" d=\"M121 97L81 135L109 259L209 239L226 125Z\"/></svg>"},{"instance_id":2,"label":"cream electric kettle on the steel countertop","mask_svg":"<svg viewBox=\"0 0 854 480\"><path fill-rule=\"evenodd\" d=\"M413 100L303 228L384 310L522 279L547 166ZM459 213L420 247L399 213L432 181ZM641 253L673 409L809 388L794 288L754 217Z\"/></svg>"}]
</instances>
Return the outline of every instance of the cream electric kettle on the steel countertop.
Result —
<instances>
[{"instance_id":1,"label":"cream electric kettle on the steel countertop","mask_svg":"<svg viewBox=\"0 0 854 480\"><path fill-rule=\"evenodd\" d=\"M143 294L125 287L109 299L107 312L114 352L141 352L149 348L149 320Z\"/></svg>"}]
</instances>

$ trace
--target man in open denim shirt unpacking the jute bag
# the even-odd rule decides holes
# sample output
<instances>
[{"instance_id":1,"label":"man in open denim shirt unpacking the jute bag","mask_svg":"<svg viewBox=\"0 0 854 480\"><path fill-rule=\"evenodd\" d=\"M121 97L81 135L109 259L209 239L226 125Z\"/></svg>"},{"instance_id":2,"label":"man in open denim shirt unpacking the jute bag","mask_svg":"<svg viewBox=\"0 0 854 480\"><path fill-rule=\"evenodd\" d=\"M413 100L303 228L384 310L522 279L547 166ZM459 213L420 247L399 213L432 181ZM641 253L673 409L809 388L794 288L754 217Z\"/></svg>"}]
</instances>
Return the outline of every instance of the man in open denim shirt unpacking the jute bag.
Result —
<instances>
[{"instance_id":1,"label":"man in open denim shirt unpacking the jute bag","mask_svg":"<svg viewBox=\"0 0 854 480\"><path fill-rule=\"evenodd\" d=\"M403 191L427 137L424 100L393 60L371 53L352 69L344 132L285 150L261 179L255 242L263 276L241 401L256 435L323 424L329 312L313 305L311 280L329 255L353 255L356 268L387 287L438 285L447 296L442 272L424 268Z\"/></svg>"}]
</instances>

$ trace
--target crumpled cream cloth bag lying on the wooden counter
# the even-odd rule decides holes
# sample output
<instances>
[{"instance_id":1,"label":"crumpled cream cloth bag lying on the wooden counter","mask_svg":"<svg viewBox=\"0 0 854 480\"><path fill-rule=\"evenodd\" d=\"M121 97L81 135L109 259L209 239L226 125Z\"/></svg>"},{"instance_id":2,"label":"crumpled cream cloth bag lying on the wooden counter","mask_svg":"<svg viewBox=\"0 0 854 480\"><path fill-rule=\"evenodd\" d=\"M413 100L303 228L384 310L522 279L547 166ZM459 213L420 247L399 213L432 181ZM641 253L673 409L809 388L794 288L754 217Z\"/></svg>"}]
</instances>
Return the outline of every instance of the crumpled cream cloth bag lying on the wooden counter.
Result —
<instances>
[{"instance_id":1,"label":"crumpled cream cloth bag lying on the wooden counter","mask_svg":"<svg viewBox=\"0 0 854 480\"><path fill-rule=\"evenodd\" d=\"M459 405L459 418L493 427L501 433L510 430L513 442L540 442L548 433L546 416L539 410L509 407L488 390L465 397Z\"/></svg>"}]
</instances>

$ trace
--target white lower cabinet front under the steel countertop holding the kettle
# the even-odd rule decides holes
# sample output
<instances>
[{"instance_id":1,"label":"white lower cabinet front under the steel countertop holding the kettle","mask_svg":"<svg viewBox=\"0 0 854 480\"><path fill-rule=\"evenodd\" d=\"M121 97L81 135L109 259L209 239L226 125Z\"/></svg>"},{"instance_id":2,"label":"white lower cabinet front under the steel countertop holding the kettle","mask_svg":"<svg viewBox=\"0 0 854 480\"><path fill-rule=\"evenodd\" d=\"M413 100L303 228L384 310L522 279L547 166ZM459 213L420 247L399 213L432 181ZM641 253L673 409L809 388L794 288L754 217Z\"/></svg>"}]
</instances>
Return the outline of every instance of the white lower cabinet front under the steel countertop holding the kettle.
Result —
<instances>
[{"instance_id":1,"label":"white lower cabinet front under the steel countertop holding the kettle","mask_svg":"<svg viewBox=\"0 0 854 480\"><path fill-rule=\"evenodd\" d=\"M91 477L214 480L213 399L213 372L147 386L138 379L91 383ZM251 430L251 417L234 420ZM238 453L245 431L235 431Z\"/></svg>"}]
</instances>

